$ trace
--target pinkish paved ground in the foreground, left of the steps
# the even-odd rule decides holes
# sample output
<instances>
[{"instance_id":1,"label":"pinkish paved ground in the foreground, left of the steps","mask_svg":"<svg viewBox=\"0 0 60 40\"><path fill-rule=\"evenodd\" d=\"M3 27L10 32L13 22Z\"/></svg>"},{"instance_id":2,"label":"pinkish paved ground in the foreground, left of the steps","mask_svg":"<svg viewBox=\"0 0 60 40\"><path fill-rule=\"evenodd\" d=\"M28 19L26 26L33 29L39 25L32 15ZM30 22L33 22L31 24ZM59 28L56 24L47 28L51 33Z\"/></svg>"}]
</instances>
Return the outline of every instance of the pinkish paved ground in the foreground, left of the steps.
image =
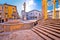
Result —
<instances>
[{"instance_id":1,"label":"pinkish paved ground in the foreground, left of the steps","mask_svg":"<svg viewBox=\"0 0 60 40\"><path fill-rule=\"evenodd\" d=\"M5 37L3 40L42 40L37 34L31 30L21 30L13 32L8 37Z\"/></svg>"}]
</instances>

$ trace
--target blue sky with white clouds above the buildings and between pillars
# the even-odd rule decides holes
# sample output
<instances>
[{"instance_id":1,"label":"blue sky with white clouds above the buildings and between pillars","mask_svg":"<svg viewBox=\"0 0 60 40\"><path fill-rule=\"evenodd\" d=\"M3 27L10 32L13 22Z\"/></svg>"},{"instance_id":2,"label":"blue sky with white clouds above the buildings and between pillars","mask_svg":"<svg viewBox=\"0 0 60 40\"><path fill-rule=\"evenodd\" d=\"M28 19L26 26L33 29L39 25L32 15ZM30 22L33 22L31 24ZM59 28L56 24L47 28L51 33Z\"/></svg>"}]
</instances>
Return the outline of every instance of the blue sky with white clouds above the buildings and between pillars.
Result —
<instances>
[{"instance_id":1,"label":"blue sky with white clouds above the buildings and between pillars","mask_svg":"<svg viewBox=\"0 0 60 40\"><path fill-rule=\"evenodd\" d=\"M17 6L19 15L21 15L21 10L23 10L23 3L26 1L26 11L31 10L41 10L42 9L42 0L0 0L0 4L11 4ZM58 0L57 0L58 1ZM58 2L56 3L56 8L58 8ZM53 6L49 6L48 10L52 10Z\"/></svg>"}]
</instances>

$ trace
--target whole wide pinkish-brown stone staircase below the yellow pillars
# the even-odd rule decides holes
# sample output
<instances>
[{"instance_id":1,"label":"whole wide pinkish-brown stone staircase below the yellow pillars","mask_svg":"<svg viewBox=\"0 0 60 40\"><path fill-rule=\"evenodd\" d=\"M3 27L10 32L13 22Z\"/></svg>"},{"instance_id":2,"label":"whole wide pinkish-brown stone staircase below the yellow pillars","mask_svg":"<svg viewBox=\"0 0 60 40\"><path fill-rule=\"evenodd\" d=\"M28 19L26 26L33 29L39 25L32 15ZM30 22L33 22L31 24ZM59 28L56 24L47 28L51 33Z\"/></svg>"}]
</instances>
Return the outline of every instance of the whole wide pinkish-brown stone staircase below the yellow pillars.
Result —
<instances>
[{"instance_id":1,"label":"whole wide pinkish-brown stone staircase below the yellow pillars","mask_svg":"<svg viewBox=\"0 0 60 40\"><path fill-rule=\"evenodd\" d=\"M42 20L32 31L43 40L60 40L60 20Z\"/></svg>"}]
</instances>

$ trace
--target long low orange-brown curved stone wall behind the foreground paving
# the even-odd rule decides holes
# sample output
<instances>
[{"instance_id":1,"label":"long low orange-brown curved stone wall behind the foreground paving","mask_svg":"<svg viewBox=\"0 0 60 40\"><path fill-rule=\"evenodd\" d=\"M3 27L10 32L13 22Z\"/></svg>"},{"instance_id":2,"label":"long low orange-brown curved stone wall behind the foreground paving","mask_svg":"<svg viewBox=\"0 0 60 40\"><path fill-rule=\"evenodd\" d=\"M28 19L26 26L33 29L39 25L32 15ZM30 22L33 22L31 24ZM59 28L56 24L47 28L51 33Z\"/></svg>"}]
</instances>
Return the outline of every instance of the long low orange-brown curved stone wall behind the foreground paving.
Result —
<instances>
[{"instance_id":1,"label":"long low orange-brown curved stone wall behind the foreground paving","mask_svg":"<svg viewBox=\"0 0 60 40\"><path fill-rule=\"evenodd\" d=\"M4 32L13 32L13 31L17 31L17 30L26 30L26 29L31 29L33 28L36 23L35 22L31 22L31 23L4 23L4 24L0 24L0 29Z\"/></svg>"}]
</instances>

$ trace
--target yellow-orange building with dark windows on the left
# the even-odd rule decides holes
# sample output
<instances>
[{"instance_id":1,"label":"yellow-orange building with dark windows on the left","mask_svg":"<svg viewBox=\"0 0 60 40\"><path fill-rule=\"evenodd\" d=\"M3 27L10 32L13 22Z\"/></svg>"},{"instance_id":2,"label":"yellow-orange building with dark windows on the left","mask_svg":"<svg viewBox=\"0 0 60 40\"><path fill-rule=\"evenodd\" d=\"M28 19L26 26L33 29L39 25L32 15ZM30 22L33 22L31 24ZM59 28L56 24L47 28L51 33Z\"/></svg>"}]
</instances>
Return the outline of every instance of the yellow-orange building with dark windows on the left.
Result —
<instances>
[{"instance_id":1,"label":"yellow-orange building with dark windows on the left","mask_svg":"<svg viewBox=\"0 0 60 40\"><path fill-rule=\"evenodd\" d=\"M16 6L6 3L0 5L0 22L8 21L8 19L17 18L19 18L19 15Z\"/></svg>"}]
</instances>

